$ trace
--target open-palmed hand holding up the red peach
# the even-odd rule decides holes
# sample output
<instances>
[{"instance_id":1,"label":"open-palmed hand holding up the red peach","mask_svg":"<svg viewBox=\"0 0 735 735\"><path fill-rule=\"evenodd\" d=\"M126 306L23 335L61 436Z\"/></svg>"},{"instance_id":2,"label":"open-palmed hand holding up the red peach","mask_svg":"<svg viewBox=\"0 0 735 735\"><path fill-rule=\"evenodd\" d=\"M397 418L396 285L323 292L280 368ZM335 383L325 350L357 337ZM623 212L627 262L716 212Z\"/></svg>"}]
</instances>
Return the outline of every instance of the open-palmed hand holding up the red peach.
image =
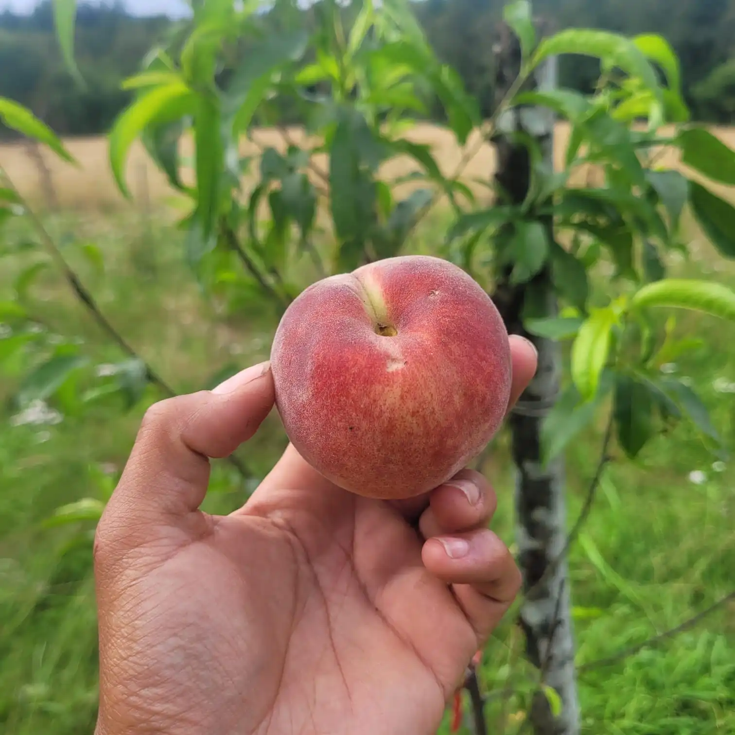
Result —
<instances>
[{"instance_id":1,"label":"open-palmed hand holding up the red peach","mask_svg":"<svg viewBox=\"0 0 735 735\"><path fill-rule=\"evenodd\" d=\"M514 403L536 356L511 343ZM514 599L470 470L372 501L290 446L243 508L201 512L208 458L273 401L257 365L146 414L96 534L98 735L429 735Z\"/></svg>"}]
</instances>

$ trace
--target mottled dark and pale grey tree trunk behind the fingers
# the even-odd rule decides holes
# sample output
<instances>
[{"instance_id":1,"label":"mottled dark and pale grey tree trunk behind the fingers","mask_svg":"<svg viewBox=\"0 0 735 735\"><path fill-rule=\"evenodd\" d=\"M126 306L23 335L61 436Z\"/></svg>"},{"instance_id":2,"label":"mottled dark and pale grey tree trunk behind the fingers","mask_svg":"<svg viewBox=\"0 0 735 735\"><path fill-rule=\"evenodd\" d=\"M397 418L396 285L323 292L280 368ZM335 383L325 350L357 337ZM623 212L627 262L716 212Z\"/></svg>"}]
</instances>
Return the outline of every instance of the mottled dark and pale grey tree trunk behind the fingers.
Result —
<instances>
[{"instance_id":1,"label":"mottled dark and pale grey tree trunk behind the fingers","mask_svg":"<svg viewBox=\"0 0 735 735\"><path fill-rule=\"evenodd\" d=\"M500 99L520 69L520 47L508 29L503 29L496 51L496 90ZM533 82L539 89L556 86L556 59L548 60L539 68ZM528 149L512 140L509 134L522 131L534 137L543 152L545 165L551 170L553 123L553 115L545 109L510 110L501 116L493 141L498 161L495 179L512 201L521 202L526 197L531 168ZM551 218L545 226L551 241ZM556 294L550 268L545 268L531 282L520 286L510 284L505 277L498 283L494 294L509 332L528 337L539 352L537 374L509 420L517 468L516 534L526 592L520 625L526 634L528 659L539 668L541 681L558 692L562 711L555 717L548 698L539 690L534 695L528 717L536 735L578 735L580 718L567 564L556 564L553 573L545 578L546 570L562 553L566 540L564 460L560 457L548 467L542 467L540 461L542 420L559 392L562 359L557 343L533 337L523 329L523 309L531 295L534 316L556 315Z\"/></svg>"}]
</instances>

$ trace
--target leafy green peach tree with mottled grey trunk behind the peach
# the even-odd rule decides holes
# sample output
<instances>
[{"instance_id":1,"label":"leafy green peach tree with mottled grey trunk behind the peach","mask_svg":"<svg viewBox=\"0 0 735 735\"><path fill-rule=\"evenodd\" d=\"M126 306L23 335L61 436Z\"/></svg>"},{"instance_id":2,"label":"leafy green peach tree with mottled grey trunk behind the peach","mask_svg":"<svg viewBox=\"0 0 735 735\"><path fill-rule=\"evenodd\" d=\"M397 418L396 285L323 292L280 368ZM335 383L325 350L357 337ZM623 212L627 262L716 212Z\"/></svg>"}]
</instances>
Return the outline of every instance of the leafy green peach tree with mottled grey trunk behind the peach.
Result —
<instances>
[{"instance_id":1,"label":"leafy green peach tree with mottled grey trunk behind the peach","mask_svg":"<svg viewBox=\"0 0 735 735\"><path fill-rule=\"evenodd\" d=\"M712 186L735 184L735 153L689 121L678 60L657 35L539 36L530 4L512 2L499 44L498 104L484 120L402 0L191 6L125 83L134 96L109 134L121 193L130 196L126 161L141 140L182 201L182 259L202 298L223 312L248 304L277 318L323 276L420 248L465 268L495 298L509 330L536 343L539 373L509 421L526 583L520 622L538 669L515 696L537 733L578 733L564 555L613 446L634 459L655 434L689 420L713 452L725 451L693 387L660 368L693 344L675 337L672 309L735 320L735 294L723 285L667 277L670 254L687 254L684 212L721 256L735 256L735 208ZM65 60L83 84L73 62L75 4L60 0L55 10ZM556 58L567 54L600 61L592 93L556 85ZM412 136L437 110L462 151L452 171ZM28 110L0 99L0 116L74 164ZM560 118L570 128L562 168L551 157ZM263 144L264 129L282 145ZM484 182L490 200L465 174L487 142L498 151ZM243 154L243 143L257 155ZM662 165L671 151L686 168ZM390 176L391 166L401 173ZM0 224L27 218L46 253L43 265L21 273L15 298L0 303L0 365L20 375L15 408L83 412L110 394L134 406L176 392L110 323L43 218L2 176ZM89 243L85 254L100 258ZM75 335L49 334L26 309L24 293L49 263L118 346L109 375L93 372ZM600 274L606 290L592 287ZM600 465L569 531L564 448L600 417ZM248 467L229 461L252 487ZM112 490L104 478L99 485L99 497L60 508L51 522L94 523ZM475 664L467 688L474 728L485 731Z\"/></svg>"}]
</instances>

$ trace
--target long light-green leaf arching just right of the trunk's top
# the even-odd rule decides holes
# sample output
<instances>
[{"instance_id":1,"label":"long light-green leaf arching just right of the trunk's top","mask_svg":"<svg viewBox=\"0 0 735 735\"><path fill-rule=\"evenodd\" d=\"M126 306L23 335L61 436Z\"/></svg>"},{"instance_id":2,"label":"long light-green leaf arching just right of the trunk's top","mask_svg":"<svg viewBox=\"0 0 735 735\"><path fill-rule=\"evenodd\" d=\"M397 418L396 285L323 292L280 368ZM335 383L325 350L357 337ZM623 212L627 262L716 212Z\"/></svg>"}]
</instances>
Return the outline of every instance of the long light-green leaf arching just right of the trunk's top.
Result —
<instances>
[{"instance_id":1,"label":"long light-green leaf arching just right of the trunk's top","mask_svg":"<svg viewBox=\"0 0 735 735\"><path fill-rule=\"evenodd\" d=\"M542 40L531 57L531 68L542 60L559 54L579 54L602 60L606 65L617 66L630 76L641 79L646 87L660 94L656 72L645 54L625 36L592 29L566 29Z\"/></svg>"}]
</instances>

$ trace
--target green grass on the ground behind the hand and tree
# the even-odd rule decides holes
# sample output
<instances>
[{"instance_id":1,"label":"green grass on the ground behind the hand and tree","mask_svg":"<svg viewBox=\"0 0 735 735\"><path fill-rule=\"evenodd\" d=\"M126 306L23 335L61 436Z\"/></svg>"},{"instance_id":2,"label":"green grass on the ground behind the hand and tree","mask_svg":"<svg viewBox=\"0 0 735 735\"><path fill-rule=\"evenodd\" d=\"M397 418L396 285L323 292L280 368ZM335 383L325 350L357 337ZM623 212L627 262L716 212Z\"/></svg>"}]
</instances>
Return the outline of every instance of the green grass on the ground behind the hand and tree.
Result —
<instances>
[{"instance_id":1,"label":"green grass on the ground behind the hand and tree","mask_svg":"<svg viewBox=\"0 0 735 735\"><path fill-rule=\"evenodd\" d=\"M196 390L222 370L268 355L273 317L252 304L235 304L230 315L207 305L182 264L180 235L165 224L153 223L148 231L118 216L104 222L57 218L50 226L62 240L73 231L82 242L99 245L102 274L79 248L68 245L66 252L112 323L176 390ZM23 230L10 231L5 245L15 248L26 237ZM35 259L42 259L35 248L2 259L0 301L10 298L18 273ZM697 268L707 268L706 262ZM735 270L721 270L717 278L735 284ZM51 271L40 273L29 293L29 308L49 331L78 335L95 364L120 359ZM682 318L679 329L698 336L710 331L706 345L679 360L677 370L692 379L731 442L735 402L733 394L717 391L717 380L735 382L735 329L696 315ZM43 521L64 503L99 495L104 473L108 484L114 481L140 415L156 396L150 392L130 412L110 399L67 411L53 426L14 426L10 398L22 368L13 359L0 368L0 731L91 733L93 525L46 528ZM587 432L567 454L570 520L587 492L601 434L599 426ZM283 446L276 421L269 420L243 456L262 473ZM582 667L675 627L731 589L735 472L731 465L713 469L713 462L695 430L680 426L653 440L637 462L609 467L570 553ZM706 476L701 484L689 480L698 471ZM494 527L512 543L512 470L502 439L487 472L499 498ZM227 512L244 498L232 472L218 467L207 509ZM735 734L734 613L735 606L725 607L656 648L583 668L585 734ZM512 614L488 645L482 674L489 690L528 691L535 681ZM491 732L517 732L525 703L523 694L493 697Z\"/></svg>"}]
</instances>

